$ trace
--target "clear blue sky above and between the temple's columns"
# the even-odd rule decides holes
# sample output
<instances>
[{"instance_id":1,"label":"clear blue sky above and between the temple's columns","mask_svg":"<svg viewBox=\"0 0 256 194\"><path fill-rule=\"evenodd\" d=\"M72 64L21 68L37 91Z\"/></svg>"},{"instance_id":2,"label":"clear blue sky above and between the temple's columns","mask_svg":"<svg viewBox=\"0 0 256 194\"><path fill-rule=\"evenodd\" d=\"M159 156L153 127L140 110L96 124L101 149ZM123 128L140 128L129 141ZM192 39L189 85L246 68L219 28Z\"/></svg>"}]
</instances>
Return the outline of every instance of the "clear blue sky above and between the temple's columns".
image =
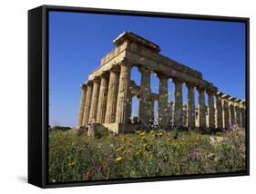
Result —
<instances>
[{"instance_id":1,"label":"clear blue sky above and between the temple's columns","mask_svg":"<svg viewBox=\"0 0 256 194\"><path fill-rule=\"evenodd\" d=\"M75 126L82 82L100 59L115 48L112 41L132 31L159 44L162 54L200 71L219 91L245 97L245 24L128 15L49 13L50 125ZM140 74L132 69L132 79ZM151 74L151 89L158 92ZM174 85L169 82L169 101ZM183 87L183 99L187 90ZM196 99L197 99L196 92ZM207 99L207 96L206 96ZM197 103L197 100L196 100ZM156 105L157 106L157 105ZM138 100L132 114L136 115Z\"/></svg>"}]
</instances>

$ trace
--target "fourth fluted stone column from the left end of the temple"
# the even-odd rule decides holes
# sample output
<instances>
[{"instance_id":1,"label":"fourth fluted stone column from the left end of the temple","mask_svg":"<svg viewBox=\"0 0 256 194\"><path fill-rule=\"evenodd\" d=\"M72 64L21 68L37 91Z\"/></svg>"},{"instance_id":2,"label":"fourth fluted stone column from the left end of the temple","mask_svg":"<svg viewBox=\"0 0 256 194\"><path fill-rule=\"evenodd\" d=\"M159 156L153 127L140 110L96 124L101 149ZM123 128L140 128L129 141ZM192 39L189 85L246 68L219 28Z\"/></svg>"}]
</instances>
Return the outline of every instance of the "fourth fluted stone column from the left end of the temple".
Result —
<instances>
[{"instance_id":1,"label":"fourth fluted stone column from the left end of the temple","mask_svg":"<svg viewBox=\"0 0 256 194\"><path fill-rule=\"evenodd\" d=\"M100 89L98 94L97 104L97 123L105 122L105 114L107 108L107 97L108 97L108 73L102 73L100 75Z\"/></svg>"}]
</instances>

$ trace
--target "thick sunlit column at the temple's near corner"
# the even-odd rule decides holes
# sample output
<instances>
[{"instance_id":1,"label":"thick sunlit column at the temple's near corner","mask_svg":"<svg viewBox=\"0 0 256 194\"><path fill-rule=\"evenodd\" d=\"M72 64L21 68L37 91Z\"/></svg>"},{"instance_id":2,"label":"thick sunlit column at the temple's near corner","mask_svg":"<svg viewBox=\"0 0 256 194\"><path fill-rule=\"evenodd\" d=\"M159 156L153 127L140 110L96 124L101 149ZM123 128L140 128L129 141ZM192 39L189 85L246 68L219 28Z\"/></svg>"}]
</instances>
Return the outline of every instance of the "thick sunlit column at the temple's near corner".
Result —
<instances>
[{"instance_id":1,"label":"thick sunlit column at the temple's near corner","mask_svg":"<svg viewBox=\"0 0 256 194\"><path fill-rule=\"evenodd\" d=\"M130 70L131 64L128 62L120 63L120 77L119 77L119 88L118 88L118 106L116 114L116 122L128 123L130 115Z\"/></svg>"}]
</instances>

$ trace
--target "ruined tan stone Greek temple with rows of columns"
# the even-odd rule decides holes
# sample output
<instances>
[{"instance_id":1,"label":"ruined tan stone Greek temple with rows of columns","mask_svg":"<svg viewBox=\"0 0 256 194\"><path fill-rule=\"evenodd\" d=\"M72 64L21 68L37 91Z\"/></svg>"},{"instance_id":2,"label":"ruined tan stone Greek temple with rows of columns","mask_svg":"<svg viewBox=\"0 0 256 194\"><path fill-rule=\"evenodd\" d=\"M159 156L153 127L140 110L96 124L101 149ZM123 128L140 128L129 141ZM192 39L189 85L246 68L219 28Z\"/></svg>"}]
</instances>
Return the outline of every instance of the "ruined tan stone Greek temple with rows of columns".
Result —
<instances>
[{"instance_id":1,"label":"ruined tan stone Greek temple with rows of columns","mask_svg":"<svg viewBox=\"0 0 256 194\"><path fill-rule=\"evenodd\" d=\"M134 131L154 118L155 101L159 104L160 126L245 128L245 100L219 92L213 83L203 79L202 73L160 54L158 44L137 34L124 32L113 43L116 48L101 59L88 81L81 85L78 128L101 123L117 133ZM140 85L130 79L133 66L141 73ZM159 93L151 92L150 73L159 78ZM168 101L170 80L175 85L173 102ZM187 102L182 97L184 86L188 90ZM138 96L138 121L131 117L133 96Z\"/></svg>"}]
</instances>

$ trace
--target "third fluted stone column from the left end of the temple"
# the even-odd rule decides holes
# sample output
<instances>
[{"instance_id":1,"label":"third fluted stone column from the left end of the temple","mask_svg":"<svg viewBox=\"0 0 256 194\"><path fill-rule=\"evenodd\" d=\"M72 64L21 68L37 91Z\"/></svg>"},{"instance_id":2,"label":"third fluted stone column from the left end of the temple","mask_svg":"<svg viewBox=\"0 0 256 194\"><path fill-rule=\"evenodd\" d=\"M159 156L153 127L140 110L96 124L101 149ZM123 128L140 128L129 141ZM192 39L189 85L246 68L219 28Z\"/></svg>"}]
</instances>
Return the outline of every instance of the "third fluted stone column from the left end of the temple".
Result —
<instances>
[{"instance_id":1,"label":"third fluted stone column from the left end of the temple","mask_svg":"<svg viewBox=\"0 0 256 194\"><path fill-rule=\"evenodd\" d=\"M97 102L98 102L98 92L99 92L99 83L100 79L97 77L93 80L93 91L92 91L92 100L91 108L89 113L89 123L95 123L97 117Z\"/></svg>"}]
</instances>

